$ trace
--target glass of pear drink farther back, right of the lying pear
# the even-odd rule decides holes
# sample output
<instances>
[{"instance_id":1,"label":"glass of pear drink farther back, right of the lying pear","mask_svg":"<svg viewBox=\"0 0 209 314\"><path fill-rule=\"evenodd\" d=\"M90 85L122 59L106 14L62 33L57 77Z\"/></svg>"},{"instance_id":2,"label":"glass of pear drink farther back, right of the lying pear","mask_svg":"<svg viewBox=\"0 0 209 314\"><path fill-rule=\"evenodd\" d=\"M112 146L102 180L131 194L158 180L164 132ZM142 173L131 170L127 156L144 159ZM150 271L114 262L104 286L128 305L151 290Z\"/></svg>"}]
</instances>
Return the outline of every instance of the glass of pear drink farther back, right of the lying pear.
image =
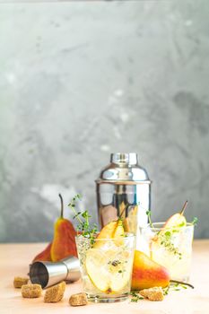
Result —
<instances>
[{"instance_id":1,"label":"glass of pear drink farther back, right of the lying pear","mask_svg":"<svg viewBox=\"0 0 209 314\"><path fill-rule=\"evenodd\" d=\"M187 283L196 222L188 223L183 212L173 214L167 222L150 222L140 228L140 249L153 261L165 266L172 280Z\"/></svg>"}]
</instances>

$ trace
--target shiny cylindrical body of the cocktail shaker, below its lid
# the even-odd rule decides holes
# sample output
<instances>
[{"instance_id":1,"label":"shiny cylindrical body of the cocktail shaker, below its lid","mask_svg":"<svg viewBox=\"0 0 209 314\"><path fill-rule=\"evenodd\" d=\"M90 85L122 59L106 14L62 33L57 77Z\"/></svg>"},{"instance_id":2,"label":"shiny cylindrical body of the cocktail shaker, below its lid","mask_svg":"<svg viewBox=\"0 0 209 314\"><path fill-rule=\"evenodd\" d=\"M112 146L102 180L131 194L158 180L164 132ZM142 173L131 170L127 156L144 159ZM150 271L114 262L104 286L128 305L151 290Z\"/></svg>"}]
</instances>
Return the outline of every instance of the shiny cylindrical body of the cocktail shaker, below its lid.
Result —
<instances>
[{"instance_id":1,"label":"shiny cylindrical body of the cocktail shaker, below its lid","mask_svg":"<svg viewBox=\"0 0 209 314\"><path fill-rule=\"evenodd\" d=\"M136 233L147 223L147 210L151 207L151 187L143 184L97 185L98 216L101 228L107 223L124 219L126 231Z\"/></svg>"}]
</instances>

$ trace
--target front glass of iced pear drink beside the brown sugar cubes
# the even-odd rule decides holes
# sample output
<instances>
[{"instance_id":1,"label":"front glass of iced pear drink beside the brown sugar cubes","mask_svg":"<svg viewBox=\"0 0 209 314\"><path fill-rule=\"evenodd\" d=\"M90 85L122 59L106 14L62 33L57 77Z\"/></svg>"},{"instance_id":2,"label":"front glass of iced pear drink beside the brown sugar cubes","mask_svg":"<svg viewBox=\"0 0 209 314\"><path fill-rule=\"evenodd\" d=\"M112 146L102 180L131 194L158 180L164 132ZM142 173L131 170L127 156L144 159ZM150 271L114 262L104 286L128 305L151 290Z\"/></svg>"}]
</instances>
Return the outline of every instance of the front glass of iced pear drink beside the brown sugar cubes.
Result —
<instances>
[{"instance_id":1,"label":"front glass of iced pear drink beside the brown sugar cubes","mask_svg":"<svg viewBox=\"0 0 209 314\"><path fill-rule=\"evenodd\" d=\"M108 233L100 231L91 239L83 235L75 238L83 292L93 302L124 301L131 289L135 235L105 236Z\"/></svg>"}]
</instances>

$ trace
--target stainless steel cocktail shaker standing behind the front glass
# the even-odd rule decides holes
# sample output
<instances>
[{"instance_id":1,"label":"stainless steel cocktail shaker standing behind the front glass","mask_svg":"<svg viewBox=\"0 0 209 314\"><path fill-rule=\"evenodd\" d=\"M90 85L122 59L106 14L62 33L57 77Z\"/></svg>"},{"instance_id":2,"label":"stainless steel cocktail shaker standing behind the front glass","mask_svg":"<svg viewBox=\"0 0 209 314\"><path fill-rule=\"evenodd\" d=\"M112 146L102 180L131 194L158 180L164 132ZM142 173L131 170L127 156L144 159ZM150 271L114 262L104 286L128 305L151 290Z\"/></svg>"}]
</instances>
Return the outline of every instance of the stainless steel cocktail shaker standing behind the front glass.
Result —
<instances>
[{"instance_id":1,"label":"stainless steel cocktail shaker standing behind the front glass","mask_svg":"<svg viewBox=\"0 0 209 314\"><path fill-rule=\"evenodd\" d=\"M96 180L101 227L119 216L126 231L137 233L147 223L151 207L151 180L139 166L136 153L111 153L110 164Z\"/></svg>"}]
</instances>

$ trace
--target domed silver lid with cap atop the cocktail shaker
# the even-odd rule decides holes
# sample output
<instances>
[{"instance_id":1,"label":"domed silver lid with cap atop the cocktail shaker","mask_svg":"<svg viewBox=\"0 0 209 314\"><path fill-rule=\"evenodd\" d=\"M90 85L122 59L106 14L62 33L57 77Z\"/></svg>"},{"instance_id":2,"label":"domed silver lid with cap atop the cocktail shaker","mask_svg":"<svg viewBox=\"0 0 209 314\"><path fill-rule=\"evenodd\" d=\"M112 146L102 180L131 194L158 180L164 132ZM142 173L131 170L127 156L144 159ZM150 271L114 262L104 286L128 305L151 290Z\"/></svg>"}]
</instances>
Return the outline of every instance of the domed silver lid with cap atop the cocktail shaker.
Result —
<instances>
[{"instance_id":1,"label":"domed silver lid with cap atop the cocktail shaker","mask_svg":"<svg viewBox=\"0 0 209 314\"><path fill-rule=\"evenodd\" d=\"M147 171L138 164L137 153L111 153L110 163L100 172L97 183L126 184L148 183L151 181Z\"/></svg>"}]
</instances>

